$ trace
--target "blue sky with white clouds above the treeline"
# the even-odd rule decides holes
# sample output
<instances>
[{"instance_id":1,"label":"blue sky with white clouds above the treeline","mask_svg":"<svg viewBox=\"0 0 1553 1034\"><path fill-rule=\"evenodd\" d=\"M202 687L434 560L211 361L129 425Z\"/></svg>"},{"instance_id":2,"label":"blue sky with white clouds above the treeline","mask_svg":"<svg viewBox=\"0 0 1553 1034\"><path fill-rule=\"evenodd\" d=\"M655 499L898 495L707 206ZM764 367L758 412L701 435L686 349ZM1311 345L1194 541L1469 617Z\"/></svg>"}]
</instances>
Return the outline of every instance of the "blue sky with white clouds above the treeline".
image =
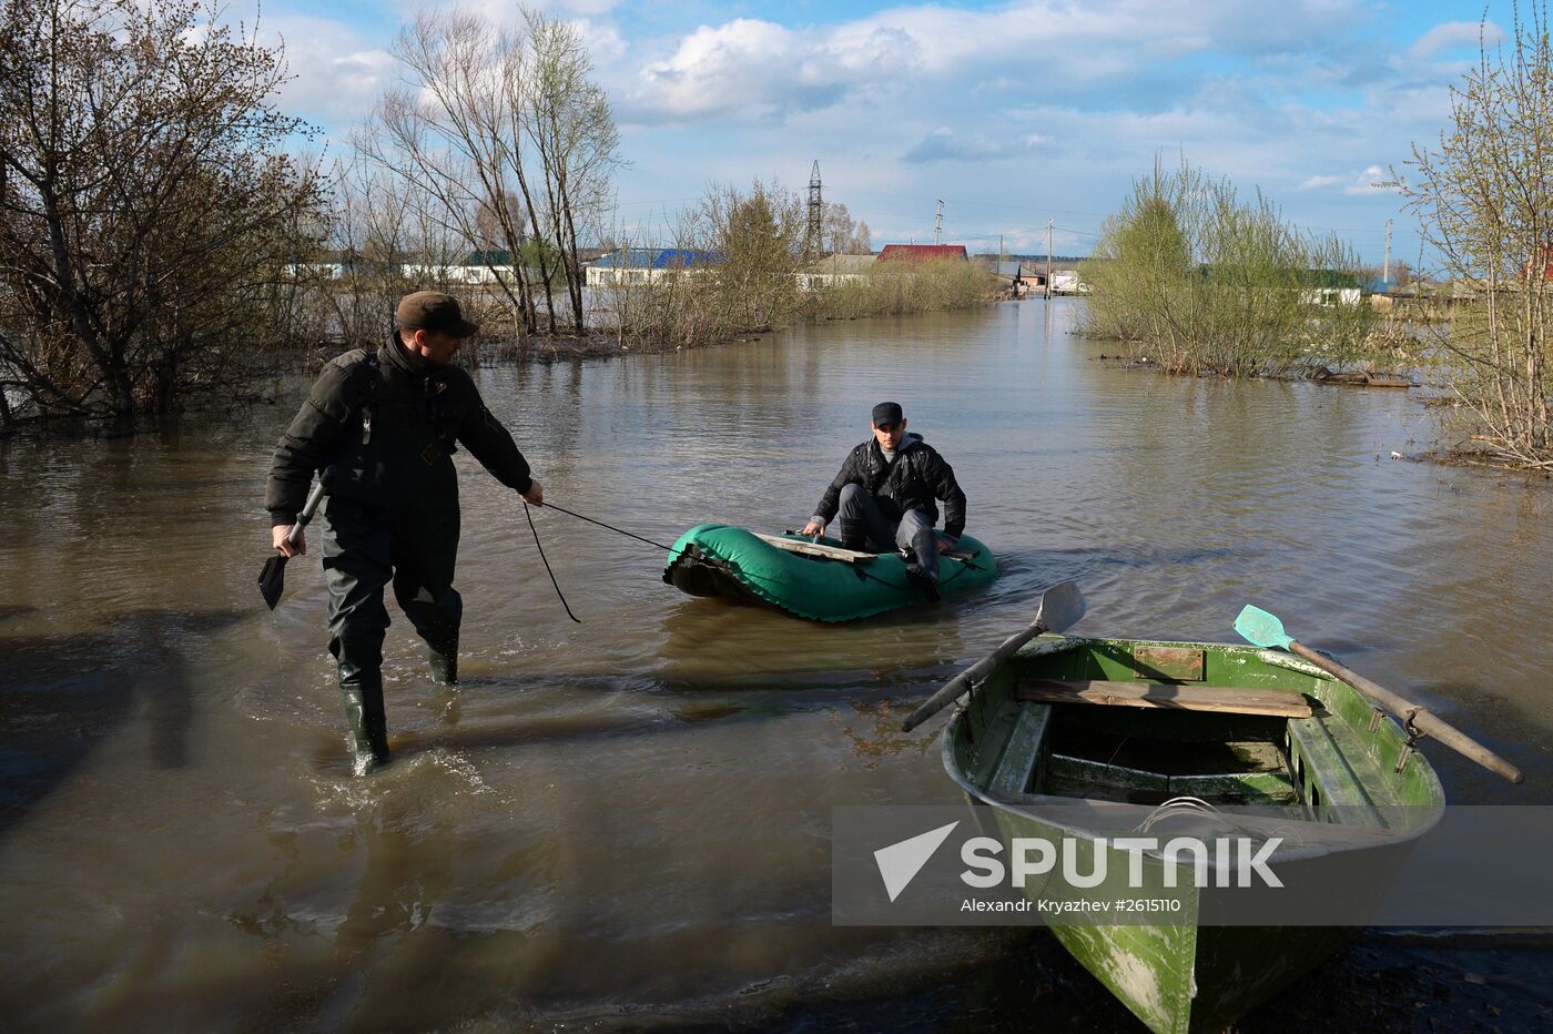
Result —
<instances>
[{"instance_id":1,"label":"blue sky with white clouds above the treeline","mask_svg":"<svg viewBox=\"0 0 1553 1034\"><path fill-rule=\"evenodd\" d=\"M242 0L228 11L242 17ZM393 81L388 47L412 3L269 0L286 40L283 106L332 137ZM461 5L495 22L516 5ZM618 219L651 234L710 182L808 186L865 219L874 247L944 241L1090 250L1106 213L1163 154L1379 262L1416 261L1413 217L1374 183L1433 143L1449 87L1477 56L1474 3L1031 0L702 3L550 0L609 90L631 166ZM1511 22L1488 5L1489 37Z\"/></svg>"}]
</instances>

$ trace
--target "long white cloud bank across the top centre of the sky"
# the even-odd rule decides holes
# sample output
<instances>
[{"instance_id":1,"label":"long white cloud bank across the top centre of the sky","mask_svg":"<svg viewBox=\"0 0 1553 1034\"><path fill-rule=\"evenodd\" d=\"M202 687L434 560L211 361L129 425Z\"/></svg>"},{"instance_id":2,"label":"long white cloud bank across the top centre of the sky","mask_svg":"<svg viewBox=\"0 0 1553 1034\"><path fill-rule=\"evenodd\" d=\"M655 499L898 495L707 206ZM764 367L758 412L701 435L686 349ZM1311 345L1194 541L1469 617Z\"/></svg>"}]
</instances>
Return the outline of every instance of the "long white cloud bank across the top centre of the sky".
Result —
<instances>
[{"instance_id":1,"label":"long white cloud bank across the top centre of the sky","mask_svg":"<svg viewBox=\"0 0 1553 1034\"><path fill-rule=\"evenodd\" d=\"M1002 85L997 73L1009 68L1039 70L1065 95L1124 104L1134 99L1129 84L1160 79L1160 65L1176 57L1213 50L1249 59L1320 45L1353 19L1356 3L1294 0L1267 11L1241 0L1191 19L1152 0L1022 0L988 11L916 5L801 29L736 19L660 43L627 107L641 121L780 120L927 82L964 92ZM1140 93L1166 99L1157 82Z\"/></svg>"}]
</instances>

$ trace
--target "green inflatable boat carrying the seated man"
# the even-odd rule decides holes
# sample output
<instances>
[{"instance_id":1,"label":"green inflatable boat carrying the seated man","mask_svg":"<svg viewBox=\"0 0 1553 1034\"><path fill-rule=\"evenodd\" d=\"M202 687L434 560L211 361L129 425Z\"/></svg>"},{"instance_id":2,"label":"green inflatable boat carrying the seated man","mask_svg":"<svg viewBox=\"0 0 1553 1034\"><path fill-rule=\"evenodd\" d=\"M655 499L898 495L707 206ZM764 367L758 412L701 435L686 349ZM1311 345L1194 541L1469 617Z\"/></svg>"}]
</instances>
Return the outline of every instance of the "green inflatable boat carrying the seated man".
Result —
<instances>
[{"instance_id":1,"label":"green inflatable boat carrying the seated man","mask_svg":"<svg viewBox=\"0 0 1553 1034\"><path fill-rule=\"evenodd\" d=\"M960 593L997 578L992 553L961 536L938 560L938 590ZM856 553L831 539L766 536L730 525L696 525L669 550L663 581L691 596L730 596L811 621L853 621L922 602L895 553Z\"/></svg>"}]
</instances>

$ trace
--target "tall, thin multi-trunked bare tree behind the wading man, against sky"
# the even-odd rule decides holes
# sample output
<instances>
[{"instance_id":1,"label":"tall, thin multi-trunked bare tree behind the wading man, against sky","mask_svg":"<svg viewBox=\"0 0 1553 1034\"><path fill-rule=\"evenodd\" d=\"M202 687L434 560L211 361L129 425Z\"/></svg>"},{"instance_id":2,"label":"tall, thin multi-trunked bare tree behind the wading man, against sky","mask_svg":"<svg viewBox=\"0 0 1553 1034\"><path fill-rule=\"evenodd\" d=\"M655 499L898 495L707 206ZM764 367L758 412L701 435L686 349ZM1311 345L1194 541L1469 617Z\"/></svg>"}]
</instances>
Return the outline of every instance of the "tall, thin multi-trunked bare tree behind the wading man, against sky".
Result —
<instances>
[{"instance_id":1,"label":"tall, thin multi-trunked bare tree behind the wading man, against sky","mask_svg":"<svg viewBox=\"0 0 1553 1034\"><path fill-rule=\"evenodd\" d=\"M558 279L582 334L578 241L598 231L618 132L576 28L519 12L519 31L471 12L418 14L394 43L407 84L380 98L356 146L432 199L449 233L480 245L523 334L539 331L540 309L558 332Z\"/></svg>"}]
</instances>

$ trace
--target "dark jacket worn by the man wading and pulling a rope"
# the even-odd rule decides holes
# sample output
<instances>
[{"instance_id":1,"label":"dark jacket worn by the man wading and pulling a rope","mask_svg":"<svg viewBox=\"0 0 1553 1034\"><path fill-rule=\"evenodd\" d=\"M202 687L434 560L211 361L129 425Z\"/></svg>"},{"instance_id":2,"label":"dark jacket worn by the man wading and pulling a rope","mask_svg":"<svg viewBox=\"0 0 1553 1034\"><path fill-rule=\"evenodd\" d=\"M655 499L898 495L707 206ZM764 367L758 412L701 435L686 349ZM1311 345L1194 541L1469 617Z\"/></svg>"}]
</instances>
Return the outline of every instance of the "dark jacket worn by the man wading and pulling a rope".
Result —
<instances>
[{"instance_id":1,"label":"dark jacket worn by the man wading and pulling a rope","mask_svg":"<svg viewBox=\"0 0 1553 1034\"><path fill-rule=\"evenodd\" d=\"M458 366L435 366L394 334L377 351L332 359L286 429L264 508L297 522L314 472L334 467L329 495L385 509L458 509L458 444L517 492L533 483L512 436Z\"/></svg>"}]
</instances>

